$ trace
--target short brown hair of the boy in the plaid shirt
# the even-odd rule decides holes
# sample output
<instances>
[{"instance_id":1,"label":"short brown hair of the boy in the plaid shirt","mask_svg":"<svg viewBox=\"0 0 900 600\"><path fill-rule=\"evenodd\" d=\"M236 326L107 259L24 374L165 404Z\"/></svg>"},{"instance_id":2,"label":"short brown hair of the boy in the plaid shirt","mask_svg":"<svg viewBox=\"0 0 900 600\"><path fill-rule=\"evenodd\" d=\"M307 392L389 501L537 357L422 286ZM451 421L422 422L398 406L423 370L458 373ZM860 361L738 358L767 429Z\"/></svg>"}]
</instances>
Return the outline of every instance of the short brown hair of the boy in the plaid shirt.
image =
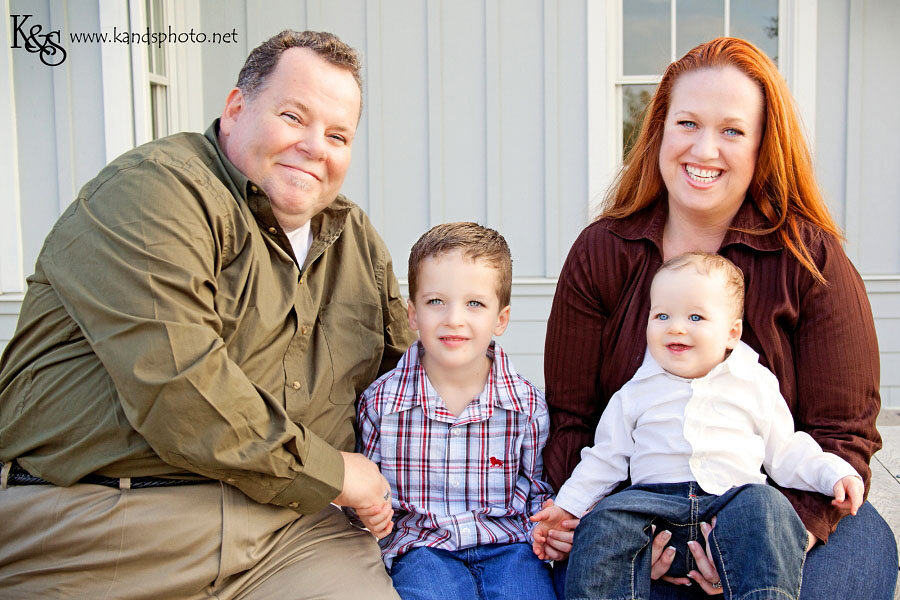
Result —
<instances>
[{"instance_id":1,"label":"short brown hair of the boy in the plaid shirt","mask_svg":"<svg viewBox=\"0 0 900 600\"><path fill-rule=\"evenodd\" d=\"M512 255L503 236L478 223L457 222L436 225L426 231L409 251L409 300L416 297L419 266L429 257L461 250L463 256L483 260L497 270L497 299L500 308L509 306L512 295Z\"/></svg>"}]
</instances>

